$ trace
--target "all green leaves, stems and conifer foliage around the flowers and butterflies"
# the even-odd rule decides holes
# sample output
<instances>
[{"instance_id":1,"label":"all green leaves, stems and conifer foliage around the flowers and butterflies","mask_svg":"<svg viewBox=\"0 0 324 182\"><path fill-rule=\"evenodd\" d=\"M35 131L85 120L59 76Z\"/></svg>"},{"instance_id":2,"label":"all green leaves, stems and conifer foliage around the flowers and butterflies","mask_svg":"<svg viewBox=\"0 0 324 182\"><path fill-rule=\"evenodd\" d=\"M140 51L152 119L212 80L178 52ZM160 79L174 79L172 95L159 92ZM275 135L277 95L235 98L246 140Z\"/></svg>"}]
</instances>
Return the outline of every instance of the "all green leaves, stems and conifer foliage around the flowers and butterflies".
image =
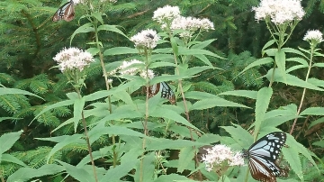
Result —
<instances>
[{"instance_id":1,"label":"all green leaves, stems and conifer foliage around the flowers and butterflies","mask_svg":"<svg viewBox=\"0 0 324 182\"><path fill-rule=\"evenodd\" d=\"M278 181L323 181L323 43L302 40L323 30L323 1L303 0L305 15L282 35L255 20L257 0L85 2L70 22L52 22L66 2L0 2L2 182L253 181L247 165L208 172L203 148L248 149L277 131L288 137ZM152 19L165 5L214 30L182 39ZM146 29L157 47L134 48L130 37ZM62 73L53 58L65 47L94 62ZM131 59L156 77L111 74ZM176 104L149 96L161 82Z\"/></svg>"}]
</instances>

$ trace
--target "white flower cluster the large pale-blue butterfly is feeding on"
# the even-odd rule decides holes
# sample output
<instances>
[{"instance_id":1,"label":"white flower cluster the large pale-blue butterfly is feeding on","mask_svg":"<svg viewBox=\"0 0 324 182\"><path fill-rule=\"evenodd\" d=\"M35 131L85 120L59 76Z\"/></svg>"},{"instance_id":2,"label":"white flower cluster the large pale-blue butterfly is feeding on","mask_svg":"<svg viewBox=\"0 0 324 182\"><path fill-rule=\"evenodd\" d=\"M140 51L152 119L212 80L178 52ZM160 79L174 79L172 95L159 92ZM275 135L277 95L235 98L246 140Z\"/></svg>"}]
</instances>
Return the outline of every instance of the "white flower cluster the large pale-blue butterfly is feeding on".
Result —
<instances>
[{"instance_id":1,"label":"white flower cluster the large pale-blue butterfly is feeding on","mask_svg":"<svg viewBox=\"0 0 324 182\"><path fill-rule=\"evenodd\" d=\"M226 145L215 145L211 149L206 149L207 154L202 156L202 162L206 165L206 170L211 171L214 166L227 164L229 166L244 165L242 153L233 152Z\"/></svg>"}]
</instances>

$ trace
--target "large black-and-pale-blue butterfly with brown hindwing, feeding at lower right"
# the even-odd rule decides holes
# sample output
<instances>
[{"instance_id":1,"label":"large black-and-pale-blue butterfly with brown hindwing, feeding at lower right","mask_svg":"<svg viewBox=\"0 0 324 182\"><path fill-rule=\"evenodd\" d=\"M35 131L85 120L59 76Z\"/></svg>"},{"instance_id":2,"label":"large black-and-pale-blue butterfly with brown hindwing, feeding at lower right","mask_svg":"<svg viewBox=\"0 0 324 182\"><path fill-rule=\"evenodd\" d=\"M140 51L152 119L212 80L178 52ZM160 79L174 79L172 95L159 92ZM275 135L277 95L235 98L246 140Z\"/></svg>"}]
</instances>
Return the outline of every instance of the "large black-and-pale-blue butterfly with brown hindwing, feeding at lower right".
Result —
<instances>
[{"instance_id":1,"label":"large black-and-pale-blue butterfly with brown hindwing, feeding at lower right","mask_svg":"<svg viewBox=\"0 0 324 182\"><path fill-rule=\"evenodd\" d=\"M248 150L243 150L243 157L251 176L263 182L276 182L276 177L282 173L281 168L275 164L281 149L287 139L284 132L271 132L251 145Z\"/></svg>"}]
</instances>

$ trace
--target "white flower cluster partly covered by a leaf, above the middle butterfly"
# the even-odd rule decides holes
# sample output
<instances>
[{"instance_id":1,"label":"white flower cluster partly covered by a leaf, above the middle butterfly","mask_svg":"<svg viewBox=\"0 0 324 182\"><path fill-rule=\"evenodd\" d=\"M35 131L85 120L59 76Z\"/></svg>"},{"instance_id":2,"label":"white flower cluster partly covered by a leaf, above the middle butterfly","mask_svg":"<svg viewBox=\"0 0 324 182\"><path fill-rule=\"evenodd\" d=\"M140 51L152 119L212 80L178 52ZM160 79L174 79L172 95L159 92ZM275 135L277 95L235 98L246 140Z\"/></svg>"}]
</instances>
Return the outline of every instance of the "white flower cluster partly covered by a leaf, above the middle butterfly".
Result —
<instances>
[{"instance_id":1,"label":"white flower cluster partly covered by a leaf, above the middle butterfly","mask_svg":"<svg viewBox=\"0 0 324 182\"><path fill-rule=\"evenodd\" d=\"M131 59L130 61L122 61L121 66L118 68L113 69L111 72L109 72L109 75L115 75L116 73L120 75L136 75L139 73L140 77L148 77L149 79L154 77L154 72L151 69L148 69L148 74L146 73L145 69L139 68L139 65L135 64L143 64L143 62L139 61L138 59Z\"/></svg>"}]
</instances>

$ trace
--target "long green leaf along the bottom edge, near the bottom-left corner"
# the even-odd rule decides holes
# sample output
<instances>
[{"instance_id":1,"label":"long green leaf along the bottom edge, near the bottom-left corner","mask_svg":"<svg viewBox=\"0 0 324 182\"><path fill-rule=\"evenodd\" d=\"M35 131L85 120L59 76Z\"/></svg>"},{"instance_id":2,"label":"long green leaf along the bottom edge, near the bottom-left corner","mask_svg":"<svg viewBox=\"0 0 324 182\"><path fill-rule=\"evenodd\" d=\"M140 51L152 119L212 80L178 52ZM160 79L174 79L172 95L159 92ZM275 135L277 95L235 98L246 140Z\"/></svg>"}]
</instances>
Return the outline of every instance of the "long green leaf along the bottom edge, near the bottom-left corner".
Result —
<instances>
[{"instance_id":1,"label":"long green leaf along the bottom edge, near the bottom-left corner","mask_svg":"<svg viewBox=\"0 0 324 182\"><path fill-rule=\"evenodd\" d=\"M8 177L7 182L24 182L29 181L33 177L54 175L62 171L64 171L64 168L56 164L45 164L40 168L19 168Z\"/></svg>"}]
</instances>

